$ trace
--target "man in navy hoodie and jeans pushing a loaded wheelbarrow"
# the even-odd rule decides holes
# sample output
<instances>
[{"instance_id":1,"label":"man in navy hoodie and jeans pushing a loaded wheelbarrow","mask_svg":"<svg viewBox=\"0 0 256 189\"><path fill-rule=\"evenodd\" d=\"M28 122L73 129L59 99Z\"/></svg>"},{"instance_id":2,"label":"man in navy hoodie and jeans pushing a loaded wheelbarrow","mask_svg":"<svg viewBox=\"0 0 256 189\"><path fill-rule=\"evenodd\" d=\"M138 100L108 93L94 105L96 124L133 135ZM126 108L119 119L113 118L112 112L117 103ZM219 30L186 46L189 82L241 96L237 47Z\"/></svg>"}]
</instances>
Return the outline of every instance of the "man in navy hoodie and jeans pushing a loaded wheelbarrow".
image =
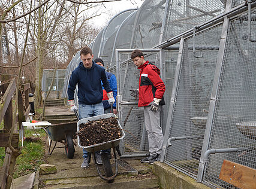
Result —
<instances>
[{"instance_id":1,"label":"man in navy hoodie and jeans pushing a loaded wheelbarrow","mask_svg":"<svg viewBox=\"0 0 256 189\"><path fill-rule=\"evenodd\" d=\"M71 74L68 85L68 104L71 106L71 111L77 109L74 104L74 91L76 85L78 86L78 102L79 102L79 117L86 118L95 115L104 114L103 107L103 89L107 92L109 103L114 103L112 89L105 74L105 69L97 65L92 59L94 55L89 47L83 47L80 50L80 58L82 62L79 63L76 69ZM101 86L102 81L102 86ZM102 164L100 152L95 153L97 163ZM88 152L83 148L83 163L82 168L89 167Z\"/></svg>"}]
</instances>

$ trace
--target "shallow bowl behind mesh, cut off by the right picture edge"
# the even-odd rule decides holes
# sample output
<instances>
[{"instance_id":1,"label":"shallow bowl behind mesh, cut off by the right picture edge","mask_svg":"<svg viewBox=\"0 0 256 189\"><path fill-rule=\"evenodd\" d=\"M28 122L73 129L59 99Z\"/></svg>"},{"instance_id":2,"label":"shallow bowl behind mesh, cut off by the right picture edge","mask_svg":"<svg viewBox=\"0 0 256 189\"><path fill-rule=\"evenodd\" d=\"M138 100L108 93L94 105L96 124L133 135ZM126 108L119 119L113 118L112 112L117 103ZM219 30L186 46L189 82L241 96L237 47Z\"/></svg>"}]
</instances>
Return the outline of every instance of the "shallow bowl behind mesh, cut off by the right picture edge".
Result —
<instances>
[{"instance_id":1,"label":"shallow bowl behind mesh, cut off by the right picture edge","mask_svg":"<svg viewBox=\"0 0 256 189\"><path fill-rule=\"evenodd\" d=\"M256 121L236 123L237 129L249 139L256 140Z\"/></svg>"}]
</instances>

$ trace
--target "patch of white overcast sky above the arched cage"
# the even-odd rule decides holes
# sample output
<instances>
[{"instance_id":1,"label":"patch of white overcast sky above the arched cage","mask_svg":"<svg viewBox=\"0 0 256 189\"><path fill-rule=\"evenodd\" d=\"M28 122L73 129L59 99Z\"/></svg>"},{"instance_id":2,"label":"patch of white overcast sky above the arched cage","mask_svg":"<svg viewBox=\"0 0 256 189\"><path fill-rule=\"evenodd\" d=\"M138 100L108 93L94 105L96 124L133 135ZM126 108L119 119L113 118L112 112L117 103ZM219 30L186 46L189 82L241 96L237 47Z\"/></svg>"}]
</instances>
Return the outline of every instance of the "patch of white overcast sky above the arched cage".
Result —
<instances>
[{"instance_id":1,"label":"patch of white overcast sky above the arched cage","mask_svg":"<svg viewBox=\"0 0 256 189\"><path fill-rule=\"evenodd\" d=\"M97 25L99 28L102 26L106 26L106 23L115 16L117 13L127 10L129 8L140 8L141 4L143 4L144 0L122 0L116 2L106 2L104 3L105 7L101 5L102 13L101 16L95 17L92 19L94 25Z\"/></svg>"}]
</instances>

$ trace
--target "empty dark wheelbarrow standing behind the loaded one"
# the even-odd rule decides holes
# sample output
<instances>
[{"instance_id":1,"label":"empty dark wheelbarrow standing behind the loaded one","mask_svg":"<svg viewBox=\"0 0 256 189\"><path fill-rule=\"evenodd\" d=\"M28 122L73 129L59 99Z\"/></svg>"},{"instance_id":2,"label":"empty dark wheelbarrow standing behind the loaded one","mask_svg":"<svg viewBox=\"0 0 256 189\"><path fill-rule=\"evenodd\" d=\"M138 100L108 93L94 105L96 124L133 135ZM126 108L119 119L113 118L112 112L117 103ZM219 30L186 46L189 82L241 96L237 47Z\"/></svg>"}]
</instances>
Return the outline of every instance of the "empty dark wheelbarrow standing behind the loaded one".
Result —
<instances>
[{"instance_id":1,"label":"empty dark wheelbarrow standing behind the loaded one","mask_svg":"<svg viewBox=\"0 0 256 189\"><path fill-rule=\"evenodd\" d=\"M75 139L76 136L77 121L52 124L50 126L47 126L45 129L48 137L50 138L48 154L51 155L55 148L65 148L65 153L67 157L73 158L75 153L74 145L76 145L76 140L73 139ZM55 141L53 147L52 141ZM62 144L64 144L64 147L56 147L57 142L61 142Z\"/></svg>"}]
</instances>

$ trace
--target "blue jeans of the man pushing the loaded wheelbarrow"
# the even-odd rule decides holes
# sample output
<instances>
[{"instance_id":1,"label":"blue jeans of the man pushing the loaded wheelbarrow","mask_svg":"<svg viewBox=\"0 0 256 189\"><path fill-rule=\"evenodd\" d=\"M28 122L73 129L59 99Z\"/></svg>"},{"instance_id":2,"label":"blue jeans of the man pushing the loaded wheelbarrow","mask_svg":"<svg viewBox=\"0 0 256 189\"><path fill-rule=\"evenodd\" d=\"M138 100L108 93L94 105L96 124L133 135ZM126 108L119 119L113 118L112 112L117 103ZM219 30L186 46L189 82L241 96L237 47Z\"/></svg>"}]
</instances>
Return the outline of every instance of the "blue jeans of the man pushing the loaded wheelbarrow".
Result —
<instances>
[{"instance_id":1,"label":"blue jeans of the man pushing the loaded wheelbarrow","mask_svg":"<svg viewBox=\"0 0 256 189\"><path fill-rule=\"evenodd\" d=\"M79 118L93 117L104 114L103 103L95 103L92 105L79 105ZM110 153L110 150L107 150ZM88 157L88 152L83 148L83 158Z\"/></svg>"}]
</instances>

